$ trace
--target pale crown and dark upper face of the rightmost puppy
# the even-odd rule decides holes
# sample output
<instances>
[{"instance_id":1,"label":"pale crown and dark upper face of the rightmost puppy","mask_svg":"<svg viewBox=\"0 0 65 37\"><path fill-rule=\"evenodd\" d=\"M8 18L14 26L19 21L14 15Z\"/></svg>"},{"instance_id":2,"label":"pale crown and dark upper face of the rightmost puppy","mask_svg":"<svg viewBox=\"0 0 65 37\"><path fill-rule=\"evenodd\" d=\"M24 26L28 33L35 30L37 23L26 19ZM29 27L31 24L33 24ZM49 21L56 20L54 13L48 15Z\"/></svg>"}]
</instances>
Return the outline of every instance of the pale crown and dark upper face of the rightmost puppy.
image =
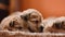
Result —
<instances>
[{"instance_id":1,"label":"pale crown and dark upper face of the rightmost puppy","mask_svg":"<svg viewBox=\"0 0 65 37\"><path fill-rule=\"evenodd\" d=\"M57 17L53 23L53 26L63 29L63 27L65 26L65 16Z\"/></svg>"}]
</instances>

